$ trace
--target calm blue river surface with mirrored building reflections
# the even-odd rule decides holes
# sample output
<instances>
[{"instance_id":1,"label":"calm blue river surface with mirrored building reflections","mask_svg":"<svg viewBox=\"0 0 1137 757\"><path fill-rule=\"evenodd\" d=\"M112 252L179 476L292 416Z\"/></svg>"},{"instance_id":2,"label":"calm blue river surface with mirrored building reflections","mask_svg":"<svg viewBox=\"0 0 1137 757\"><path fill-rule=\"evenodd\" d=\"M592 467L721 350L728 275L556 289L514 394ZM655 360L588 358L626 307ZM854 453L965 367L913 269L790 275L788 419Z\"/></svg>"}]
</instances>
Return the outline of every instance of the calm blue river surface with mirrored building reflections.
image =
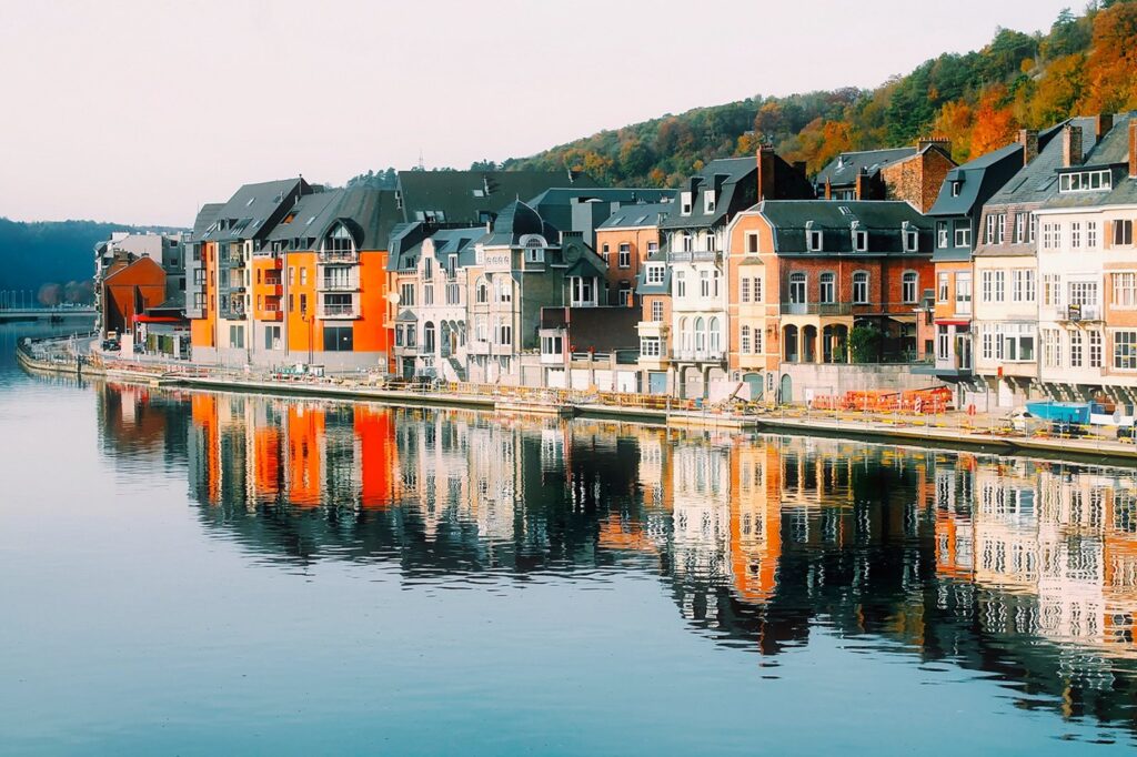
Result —
<instances>
[{"instance_id":1,"label":"calm blue river surface with mirrored building reflections","mask_svg":"<svg viewBox=\"0 0 1137 757\"><path fill-rule=\"evenodd\" d=\"M14 328L0 752L1135 743L1132 469L77 384Z\"/></svg>"}]
</instances>

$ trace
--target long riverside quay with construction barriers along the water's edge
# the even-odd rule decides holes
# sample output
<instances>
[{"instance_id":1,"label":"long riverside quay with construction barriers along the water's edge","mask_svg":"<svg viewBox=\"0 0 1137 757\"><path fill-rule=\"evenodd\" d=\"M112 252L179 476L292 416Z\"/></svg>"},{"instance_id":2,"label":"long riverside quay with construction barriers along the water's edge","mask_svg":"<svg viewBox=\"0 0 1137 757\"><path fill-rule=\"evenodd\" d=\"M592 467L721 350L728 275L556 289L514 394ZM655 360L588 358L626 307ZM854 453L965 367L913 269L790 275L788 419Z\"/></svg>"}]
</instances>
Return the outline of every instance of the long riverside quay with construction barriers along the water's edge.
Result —
<instances>
[{"instance_id":1,"label":"long riverside quay with construction barriers along the water's edge","mask_svg":"<svg viewBox=\"0 0 1137 757\"><path fill-rule=\"evenodd\" d=\"M889 442L899 446L972 449L1078 460L1137 464L1137 446L1106 427L1076 435L1027 434L997 415L912 411L819 410L799 405L731 401L717 405L657 394L537 389L498 384L408 382L380 374L314 376L287 371L234 371L140 357L108 359L83 340L20 340L17 359L35 373L102 377L155 388L188 388L258 394L365 400L393 406L463 407L528 416L576 415L688 429L789 433Z\"/></svg>"}]
</instances>

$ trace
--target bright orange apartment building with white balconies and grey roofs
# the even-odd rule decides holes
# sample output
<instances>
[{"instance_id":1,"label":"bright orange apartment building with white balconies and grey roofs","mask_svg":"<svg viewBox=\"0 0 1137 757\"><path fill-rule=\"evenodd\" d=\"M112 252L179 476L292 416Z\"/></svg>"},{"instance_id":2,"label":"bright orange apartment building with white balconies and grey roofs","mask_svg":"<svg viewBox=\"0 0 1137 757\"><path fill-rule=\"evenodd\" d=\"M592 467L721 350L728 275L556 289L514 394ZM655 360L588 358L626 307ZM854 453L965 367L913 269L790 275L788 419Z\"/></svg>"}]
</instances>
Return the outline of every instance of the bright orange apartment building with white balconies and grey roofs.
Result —
<instances>
[{"instance_id":1,"label":"bright orange apartment building with white balconies and grey roofs","mask_svg":"<svg viewBox=\"0 0 1137 757\"><path fill-rule=\"evenodd\" d=\"M248 184L191 238L193 359L385 369L387 243L396 193Z\"/></svg>"}]
</instances>

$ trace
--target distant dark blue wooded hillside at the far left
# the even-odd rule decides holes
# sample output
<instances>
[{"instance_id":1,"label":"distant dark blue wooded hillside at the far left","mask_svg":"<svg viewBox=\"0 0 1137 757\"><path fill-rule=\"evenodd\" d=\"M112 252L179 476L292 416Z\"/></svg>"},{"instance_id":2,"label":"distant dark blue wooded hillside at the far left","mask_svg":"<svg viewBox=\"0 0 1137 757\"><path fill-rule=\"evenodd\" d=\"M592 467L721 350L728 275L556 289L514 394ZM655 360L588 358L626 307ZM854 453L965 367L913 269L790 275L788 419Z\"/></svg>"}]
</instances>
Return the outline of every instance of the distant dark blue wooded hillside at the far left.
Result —
<instances>
[{"instance_id":1,"label":"distant dark blue wooded hillside at the far left","mask_svg":"<svg viewBox=\"0 0 1137 757\"><path fill-rule=\"evenodd\" d=\"M38 292L45 284L89 281L94 275L96 243L115 231L147 228L94 221L25 223L0 217L0 290Z\"/></svg>"}]
</instances>

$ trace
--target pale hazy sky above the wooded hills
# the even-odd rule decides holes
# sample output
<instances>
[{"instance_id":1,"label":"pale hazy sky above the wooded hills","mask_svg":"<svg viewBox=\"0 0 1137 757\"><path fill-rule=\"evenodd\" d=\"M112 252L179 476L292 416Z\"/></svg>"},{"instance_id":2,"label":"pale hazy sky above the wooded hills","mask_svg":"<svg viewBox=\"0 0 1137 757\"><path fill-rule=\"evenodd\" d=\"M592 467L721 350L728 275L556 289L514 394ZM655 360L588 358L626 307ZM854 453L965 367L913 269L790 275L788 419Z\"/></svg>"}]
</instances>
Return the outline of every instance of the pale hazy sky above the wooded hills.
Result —
<instances>
[{"instance_id":1,"label":"pale hazy sky above the wooded hills","mask_svg":"<svg viewBox=\"0 0 1137 757\"><path fill-rule=\"evenodd\" d=\"M242 183L466 168L871 88L1071 0L0 0L0 216L190 225Z\"/></svg>"}]
</instances>

